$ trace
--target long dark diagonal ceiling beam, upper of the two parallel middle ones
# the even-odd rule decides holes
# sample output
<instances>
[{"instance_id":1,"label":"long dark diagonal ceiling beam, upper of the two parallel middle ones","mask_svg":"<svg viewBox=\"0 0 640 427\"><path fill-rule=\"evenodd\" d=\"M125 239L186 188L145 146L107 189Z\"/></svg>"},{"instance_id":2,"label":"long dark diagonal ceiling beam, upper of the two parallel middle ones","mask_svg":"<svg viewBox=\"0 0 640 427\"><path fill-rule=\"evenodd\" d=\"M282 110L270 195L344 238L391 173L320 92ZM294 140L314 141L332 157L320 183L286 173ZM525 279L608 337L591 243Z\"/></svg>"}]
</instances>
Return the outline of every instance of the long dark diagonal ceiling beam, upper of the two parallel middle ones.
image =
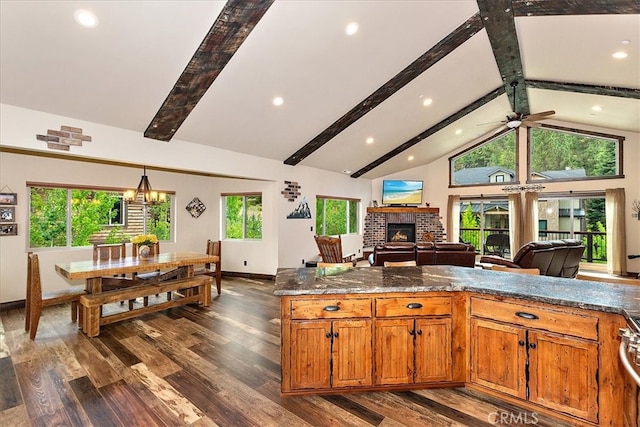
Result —
<instances>
[{"instance_id":1,"label":"long dark diagonal ceiling beam, upper of the two parallel middle ones","mask_svg":"<svg viewBox=\"0 0 640 427\"><path fill-rule=\"evenodd\" d=\"M297 165L482 29L474 15L284 161Z\"/></svg>"}]
</instances>

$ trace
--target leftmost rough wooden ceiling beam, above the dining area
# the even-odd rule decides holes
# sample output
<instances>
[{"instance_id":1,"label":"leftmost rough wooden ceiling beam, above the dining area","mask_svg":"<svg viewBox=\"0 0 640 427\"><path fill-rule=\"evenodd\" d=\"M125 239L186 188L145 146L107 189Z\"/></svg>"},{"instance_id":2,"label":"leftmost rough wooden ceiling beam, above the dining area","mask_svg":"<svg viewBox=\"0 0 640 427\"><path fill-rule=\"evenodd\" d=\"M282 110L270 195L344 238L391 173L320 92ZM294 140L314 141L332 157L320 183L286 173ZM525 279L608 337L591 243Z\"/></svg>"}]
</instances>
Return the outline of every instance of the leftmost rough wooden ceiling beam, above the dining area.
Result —
<instances>
[{"instance_id":1,"label":"leftmost rough wooden ceiling beam, above the dining area","mask_svg":"<svg viewBox=\"0 0 640 427\"><path fill-rule=\"evenodd\" d=\"M169 92L147 138L170 141L274 0L229 0Z\"/></svg>"}]
</instances>

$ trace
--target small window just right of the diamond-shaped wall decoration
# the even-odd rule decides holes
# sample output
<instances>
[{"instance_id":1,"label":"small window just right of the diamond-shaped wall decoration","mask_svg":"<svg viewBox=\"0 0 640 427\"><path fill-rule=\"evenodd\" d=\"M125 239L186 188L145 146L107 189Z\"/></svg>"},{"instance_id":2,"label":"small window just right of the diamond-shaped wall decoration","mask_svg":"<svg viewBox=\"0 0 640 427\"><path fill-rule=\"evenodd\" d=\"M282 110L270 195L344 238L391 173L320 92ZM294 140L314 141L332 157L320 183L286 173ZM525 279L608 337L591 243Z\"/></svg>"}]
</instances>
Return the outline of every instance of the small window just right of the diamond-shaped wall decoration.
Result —
<instances>
[{"instance_id":1,"label":"small window just right of the diamond-shaped wall decoration","mask_svg":"<svg viewBox=\"0 0 640 427\"><path fill-rule=\"evenodd\" d=\"M262 194L223 194L225 237L262 239Z\"/></svg>"}]
</instances>

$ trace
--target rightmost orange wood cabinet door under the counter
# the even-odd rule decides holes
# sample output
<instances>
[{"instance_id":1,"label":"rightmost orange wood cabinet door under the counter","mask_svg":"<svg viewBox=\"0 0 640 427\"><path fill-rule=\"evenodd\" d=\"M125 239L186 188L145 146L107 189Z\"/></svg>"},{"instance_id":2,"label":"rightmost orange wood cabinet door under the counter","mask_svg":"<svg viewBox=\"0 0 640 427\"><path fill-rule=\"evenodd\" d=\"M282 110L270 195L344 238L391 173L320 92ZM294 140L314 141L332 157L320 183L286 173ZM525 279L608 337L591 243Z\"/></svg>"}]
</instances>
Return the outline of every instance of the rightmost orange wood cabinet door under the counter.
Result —
<instances>
[{"instance_id":1,"label":"rightmost orange wood cabinet door under the counter","mask_svg":"<svg viewBox=\"0 0 640 427\"><path fill-rule=\"evenodd\" d=\"M596 343L529 332L529 400L598 421Z\"/></svg>"}]
</instances>

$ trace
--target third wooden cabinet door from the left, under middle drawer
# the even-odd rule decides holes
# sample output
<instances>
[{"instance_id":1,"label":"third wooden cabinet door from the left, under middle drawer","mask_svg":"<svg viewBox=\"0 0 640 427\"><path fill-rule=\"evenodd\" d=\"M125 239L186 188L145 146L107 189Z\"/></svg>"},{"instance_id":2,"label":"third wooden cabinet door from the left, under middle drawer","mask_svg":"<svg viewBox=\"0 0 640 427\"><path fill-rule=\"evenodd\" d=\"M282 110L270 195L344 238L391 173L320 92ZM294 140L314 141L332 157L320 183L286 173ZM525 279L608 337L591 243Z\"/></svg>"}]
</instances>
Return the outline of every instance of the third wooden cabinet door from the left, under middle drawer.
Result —
<instances>
[{"instance_id":1,"label":"third wooden cabinet door from the left, under middle drawer","mask_svg":"<svg viewBox=\"0 0 640 427\"><path fill-rule=\"evenodd\" d=\"M376 384L413 382L413 319L376 320Z\"/></svg>"}]
</instances>

